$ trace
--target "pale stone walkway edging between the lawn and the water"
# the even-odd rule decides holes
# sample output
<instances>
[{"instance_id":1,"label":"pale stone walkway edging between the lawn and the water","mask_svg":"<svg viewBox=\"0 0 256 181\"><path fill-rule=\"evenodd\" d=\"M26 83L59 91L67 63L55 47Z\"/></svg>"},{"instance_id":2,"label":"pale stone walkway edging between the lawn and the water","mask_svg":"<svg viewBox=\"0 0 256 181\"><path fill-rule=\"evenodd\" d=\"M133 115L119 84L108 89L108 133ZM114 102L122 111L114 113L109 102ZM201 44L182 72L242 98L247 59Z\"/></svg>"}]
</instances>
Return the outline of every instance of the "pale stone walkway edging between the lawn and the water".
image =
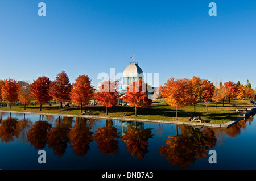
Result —
<instances>
[{"instance_id":1,"label":"pale stone walkway edging between the lawn and the water","mask_svg":"<svg viewBox=\"0 0 256 181\"><path fill-rule=\"evenodd\" d=\"M120 121L138 121L138 122L148 122L148 123L163 123L163 124L178 124L178 125L189 125L195 127L210 127L210 128L229 128L233 124L240 120L247 119L250 116L255 115L256 107L249 108L248 112L243 112L241 117L236 120L228 121L224 124L210 124L210 123L198 123L198 122L183 122L183 121L162 121L162 120L148 120L148 119L135 119L129 117L107 117L107 116L93 116L93 115L68 115L61 113L38 113L38 112L22 112L22 111L3 111L0 112L11 112L11 113L22 113L22 114L35 114L35 115L52 115L52 116L63 116L63 117L84 117L89 119L111 119Z\"/></svg>"}]
</instances>

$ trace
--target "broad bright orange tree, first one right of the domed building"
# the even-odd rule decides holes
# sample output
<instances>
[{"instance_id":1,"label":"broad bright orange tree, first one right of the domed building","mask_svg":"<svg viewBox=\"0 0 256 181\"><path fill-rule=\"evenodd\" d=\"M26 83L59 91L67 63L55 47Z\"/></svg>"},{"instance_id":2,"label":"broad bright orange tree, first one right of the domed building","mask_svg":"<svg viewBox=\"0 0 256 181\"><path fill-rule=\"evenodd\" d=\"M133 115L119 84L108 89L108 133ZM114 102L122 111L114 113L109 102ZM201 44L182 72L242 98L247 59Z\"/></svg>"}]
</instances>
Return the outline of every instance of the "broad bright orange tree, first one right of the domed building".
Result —
<instances>
[{"instance_id":1,"label":"broad bright orange tree, first one right of the domed building","mask_svg":"<svg viewBox=\"0 0 256 181\"><path fill-rule=\"evenodd\" d=\"M176 119L177 108L189 106L192 102L192 88L191 81L189 79L174 79L170 78L164 86L160 86L160 92L163 98L172 107L176 107Z\"/></svg>"}]
</instances>

